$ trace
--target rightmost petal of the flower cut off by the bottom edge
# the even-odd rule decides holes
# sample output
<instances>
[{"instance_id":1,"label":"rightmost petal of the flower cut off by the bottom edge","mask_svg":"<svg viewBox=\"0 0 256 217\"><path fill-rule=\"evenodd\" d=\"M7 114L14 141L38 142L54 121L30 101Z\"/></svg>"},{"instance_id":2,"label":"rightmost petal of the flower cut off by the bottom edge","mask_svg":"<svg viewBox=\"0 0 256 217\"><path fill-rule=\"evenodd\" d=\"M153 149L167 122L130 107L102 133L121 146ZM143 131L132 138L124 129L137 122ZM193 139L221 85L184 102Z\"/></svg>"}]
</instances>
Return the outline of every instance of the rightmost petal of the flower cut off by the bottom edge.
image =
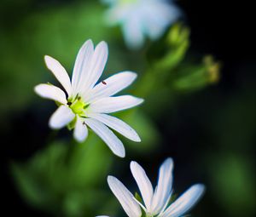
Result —
<instances>
[{"instance_id":1,"label":"rightmost petal of the flower cut off by the bottom edge","mask_svg":"<svg viewBox=\"0 0 256 217\"><path fill-rule=\"evenodd\" d=\"M160 217L179 217L185 214L198 202L204 190L205 186L200 184L190 187L189 190L184 192L181 197L178 197Z\"/></svg>"}]
</instances>

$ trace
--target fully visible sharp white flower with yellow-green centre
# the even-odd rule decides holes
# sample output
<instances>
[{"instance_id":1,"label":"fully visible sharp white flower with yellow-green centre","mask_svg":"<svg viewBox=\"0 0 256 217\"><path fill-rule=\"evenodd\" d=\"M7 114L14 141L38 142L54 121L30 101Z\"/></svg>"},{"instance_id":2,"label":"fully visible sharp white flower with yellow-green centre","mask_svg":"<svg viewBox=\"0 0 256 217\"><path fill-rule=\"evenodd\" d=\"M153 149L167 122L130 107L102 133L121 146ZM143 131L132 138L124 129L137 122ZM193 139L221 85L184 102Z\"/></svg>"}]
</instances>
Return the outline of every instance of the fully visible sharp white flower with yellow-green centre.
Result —
<instances>
[{"instance_id":1,"label":"fully visible sharp white flower with yellow-green centre","mask_svg":"<svg viewBox=\"0 0 256 217\"><path fill-rule=\"evenodd\" d=\"M65 92L51 84L39 84L35 92L47 99L55 100L59 108L49 119L50 128L74 128L73 136L79 142L86 139L91 128L109 146L114 154L125 157L125 148L109 128L126 138L139 142L136 131L108 113L137 106L142 99L131 95L113 96L129 86L137 77L131 71L119 72L97 83L108 59L108 45L99 43L94 49L91 40L84 43L73 68L72 81L67 71L52 57L45 56L46 66L53 72ZM97 84L96 84L97 83ZM108 127L109 128L108 128Z\"/></svg>"}]
</instances>

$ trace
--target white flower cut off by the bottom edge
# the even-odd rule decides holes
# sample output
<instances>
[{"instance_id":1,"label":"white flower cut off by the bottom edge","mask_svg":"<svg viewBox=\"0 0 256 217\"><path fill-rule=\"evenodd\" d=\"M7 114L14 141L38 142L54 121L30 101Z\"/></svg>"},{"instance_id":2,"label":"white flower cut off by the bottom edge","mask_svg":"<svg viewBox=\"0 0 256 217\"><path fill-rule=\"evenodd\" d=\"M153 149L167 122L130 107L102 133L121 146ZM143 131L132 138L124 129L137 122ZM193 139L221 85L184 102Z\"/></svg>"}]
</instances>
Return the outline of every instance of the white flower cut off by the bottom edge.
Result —
<instances>
[{"instance_id":1,"label":"white flower cut off by the bottom edge","mask_svg":"<svg viewBox=\"0 0 256 217\"><path fill-rule=\"evenodd\" d=\"M187 213L198 202L205 187L201 184L191 186L169 205L172 196L172 168L172 158L167 158L160 166L158 184L154 190L144 169L138 163L131 162L131 173L141 192L143 204L138 202L115 177L108 176L108 185L129 217L141 217L140 206L147 217L179 217Z\"/></svg>"}]
</instances>

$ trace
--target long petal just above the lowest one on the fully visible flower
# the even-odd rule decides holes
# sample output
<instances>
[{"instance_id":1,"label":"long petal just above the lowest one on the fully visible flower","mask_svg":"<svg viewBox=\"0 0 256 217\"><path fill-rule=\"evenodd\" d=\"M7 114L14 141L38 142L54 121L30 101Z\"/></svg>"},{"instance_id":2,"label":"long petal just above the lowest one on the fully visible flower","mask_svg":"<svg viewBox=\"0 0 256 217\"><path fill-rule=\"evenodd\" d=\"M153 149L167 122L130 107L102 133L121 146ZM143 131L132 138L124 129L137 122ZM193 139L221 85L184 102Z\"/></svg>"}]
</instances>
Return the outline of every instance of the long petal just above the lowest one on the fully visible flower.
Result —
<instances>
[{"instance_id":1,"label":"long petal just above the lowest one on the fully visible flower","mask_svg":"<svg viewBox=\"0 0 256 217\"><path fill-rule=\"evenodd\" d=\"M115 131L119 132L119 134L124 135L130 140L137 142L141 141L136 131L117 117L99 113L90 113L89 117L95 118L99 122L106 124L109 128L113 128Z\"/></svg>"}]
</instances>

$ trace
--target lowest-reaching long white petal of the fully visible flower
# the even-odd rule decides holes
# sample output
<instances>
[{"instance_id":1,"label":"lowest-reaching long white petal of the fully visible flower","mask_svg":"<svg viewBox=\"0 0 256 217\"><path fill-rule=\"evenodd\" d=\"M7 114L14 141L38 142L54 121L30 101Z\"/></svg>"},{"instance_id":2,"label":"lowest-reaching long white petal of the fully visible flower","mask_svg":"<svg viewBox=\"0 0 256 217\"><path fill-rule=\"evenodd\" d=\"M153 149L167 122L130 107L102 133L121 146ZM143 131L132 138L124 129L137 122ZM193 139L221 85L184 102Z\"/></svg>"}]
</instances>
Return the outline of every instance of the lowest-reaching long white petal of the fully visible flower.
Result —
<instances>
[{"instance_id":1,"label":"lowest-reaching long white petal of the fully visible flower","mask_svg":"<svg viewBox=\"0 0 256 217\"><path fill-rule=\"evenodd\" d=\"M123 143L108 127L92 118L84 118L84 122L102 138L115 155L125 157L125 147Z\"/></svg>"}]
</instances>

